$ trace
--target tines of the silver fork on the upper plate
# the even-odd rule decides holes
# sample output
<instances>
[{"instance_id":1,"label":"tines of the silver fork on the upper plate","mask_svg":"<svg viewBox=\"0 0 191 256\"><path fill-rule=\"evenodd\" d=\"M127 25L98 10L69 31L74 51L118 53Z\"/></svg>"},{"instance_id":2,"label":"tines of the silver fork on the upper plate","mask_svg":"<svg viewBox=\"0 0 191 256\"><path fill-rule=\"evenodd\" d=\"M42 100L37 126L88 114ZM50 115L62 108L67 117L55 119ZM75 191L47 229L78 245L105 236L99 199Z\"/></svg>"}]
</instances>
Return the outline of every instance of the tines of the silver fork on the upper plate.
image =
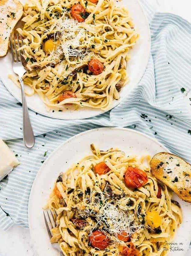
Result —
<instances>
[{"instance_id":1,"label":"tines of the silver fork on the upper plate","mask_svg":"<svg viewBox=\"0 0 191 256\"><path fill-rule=\"evenodd\" d=\"M12 41L14 42L14 50L15 51L13 51ZM17 41L17 43L16 43L16 41ZM18 49L20 47L22 47L23 45L24 45L23 38L20 34L19 35L13 34L10 36L10 49L11 49L12 62L21 62L21 55L24 54L24 49L21 49L21 50L18 50ZM15 52L15 57L14 57L14 52Z\"/></svg>"}]
</instances>

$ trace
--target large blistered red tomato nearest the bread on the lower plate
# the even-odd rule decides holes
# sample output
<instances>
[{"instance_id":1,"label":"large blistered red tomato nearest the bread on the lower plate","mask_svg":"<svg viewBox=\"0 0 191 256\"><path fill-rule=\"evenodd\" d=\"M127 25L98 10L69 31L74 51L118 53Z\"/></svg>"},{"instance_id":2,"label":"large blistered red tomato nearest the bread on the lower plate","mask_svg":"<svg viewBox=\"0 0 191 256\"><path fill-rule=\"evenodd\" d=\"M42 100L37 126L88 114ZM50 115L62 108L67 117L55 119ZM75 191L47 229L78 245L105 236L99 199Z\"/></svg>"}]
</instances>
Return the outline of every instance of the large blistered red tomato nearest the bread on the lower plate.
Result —
<instances>
[{"instance_id":1,"label":"large blistered red tomato nearest the bread on the lower plate","mask_svg":"<svg viewBox=\"0 0 191 256\"><path fill-rule=\"evenodd\" d=\"M127 187L137 188L147 183L147 173L136 168L129 166L125 173L125 183Z\"/></svg>"}]
</instances>

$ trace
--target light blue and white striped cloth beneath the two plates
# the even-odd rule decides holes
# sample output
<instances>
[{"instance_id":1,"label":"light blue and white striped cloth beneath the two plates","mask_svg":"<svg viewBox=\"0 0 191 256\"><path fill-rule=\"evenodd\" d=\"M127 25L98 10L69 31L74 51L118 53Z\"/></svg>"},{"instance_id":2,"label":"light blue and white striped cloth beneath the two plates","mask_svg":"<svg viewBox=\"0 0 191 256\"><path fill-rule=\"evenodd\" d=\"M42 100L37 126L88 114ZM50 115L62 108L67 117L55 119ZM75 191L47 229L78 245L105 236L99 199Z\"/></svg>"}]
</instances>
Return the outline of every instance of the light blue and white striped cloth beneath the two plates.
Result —
<instances>
[{"instance_id":1,"label":"light blue and white striped cloth beneath the two plates","mask_svg":"<svg viewBox=\"0 0 191 256\"><path fill-rule=\"evenodd\" d=\"M129 127L155 137L171 152L191 162L191 114L185 100L191 90L191 24L172 14L154 14L147 0L141 2L150 18L149 63L138 86L111 111L77 121L51 119L30 111L37 137L34 148L28 150L21 139L22 108L0 84L0 137L7 140L21 163L0 183L3 229L14 223L28 227L30 188L42 162L63 141L85 130L100 126ZM44 157L45 151L48 152Z\"/></svg>"}]
</instances>

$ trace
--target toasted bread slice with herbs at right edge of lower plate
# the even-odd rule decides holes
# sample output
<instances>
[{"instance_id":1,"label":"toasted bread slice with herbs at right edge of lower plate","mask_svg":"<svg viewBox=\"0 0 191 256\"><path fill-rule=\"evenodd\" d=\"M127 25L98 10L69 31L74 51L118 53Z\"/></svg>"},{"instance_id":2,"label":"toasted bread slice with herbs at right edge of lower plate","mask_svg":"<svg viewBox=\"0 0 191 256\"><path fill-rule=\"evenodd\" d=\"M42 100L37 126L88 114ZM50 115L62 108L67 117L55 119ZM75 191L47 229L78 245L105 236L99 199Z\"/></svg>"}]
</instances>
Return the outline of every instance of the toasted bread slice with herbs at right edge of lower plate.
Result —
<instances>
[{"instance_id":1,"label":"toasted bread slice with herbs at right edge of lower plate","mask_svg":"<svg viewBox=\"0 0 191 256\"><path fill-rule=\"evenodd\" d=\"M191 165L179 156L161 152L150 161L151 173L182 200L191 202Z\"/></svg>"}]
</instances>

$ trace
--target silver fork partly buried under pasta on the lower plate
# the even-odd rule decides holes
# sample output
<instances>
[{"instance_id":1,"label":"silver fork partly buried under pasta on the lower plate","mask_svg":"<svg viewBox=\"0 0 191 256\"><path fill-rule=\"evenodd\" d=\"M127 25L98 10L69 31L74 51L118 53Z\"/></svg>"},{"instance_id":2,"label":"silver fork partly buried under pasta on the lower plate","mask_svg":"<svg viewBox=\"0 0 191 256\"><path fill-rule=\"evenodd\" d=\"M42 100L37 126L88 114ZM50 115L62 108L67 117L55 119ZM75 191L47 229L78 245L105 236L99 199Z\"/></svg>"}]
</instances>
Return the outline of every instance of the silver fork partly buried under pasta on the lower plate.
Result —
<instances>
[{"instance_id":1,"label":"silver fork partly buried under pasta on the lower plate","mask_svg":"<svg viewBox=\"0 0 191 256\"><path fill-rule=\"evenodd\" d=\"M54 209L55 218L54 218L51 210L44 210L43 214L44 214L44 221L45 221L46 229L47 229L49 238L51 239L51 237L53 235L52 232L51 232L51 229L56 227L56 220L55 219L57 218L57 213ZM54 244L51 244L51 245L54 249L56 249L59 252L60 256L63 255L58 243L54 243Z\"/></svg>"}]
</instances>

